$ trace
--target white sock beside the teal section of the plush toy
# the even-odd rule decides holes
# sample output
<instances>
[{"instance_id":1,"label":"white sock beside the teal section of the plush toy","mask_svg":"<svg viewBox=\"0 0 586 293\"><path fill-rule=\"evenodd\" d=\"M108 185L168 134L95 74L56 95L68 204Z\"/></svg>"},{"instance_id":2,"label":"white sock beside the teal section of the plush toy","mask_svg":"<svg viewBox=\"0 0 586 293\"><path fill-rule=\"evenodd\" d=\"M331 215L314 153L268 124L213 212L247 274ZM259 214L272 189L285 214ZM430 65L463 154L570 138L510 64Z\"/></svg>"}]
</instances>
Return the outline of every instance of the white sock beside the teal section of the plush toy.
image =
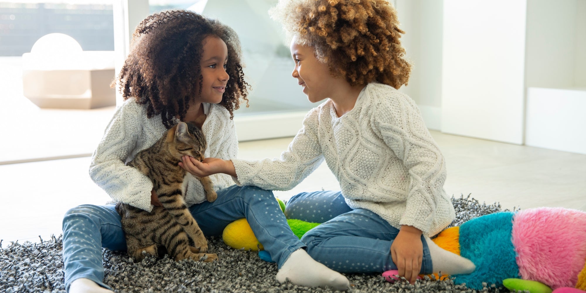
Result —
<instances>
[{"instance_id":1,"label":"white sock beside the teal section of the plush toy","mask_svg":"<svg viewBox=\"0 0 586 293\"><path fill-rule=\"evenodd\" d=\"M442 275L470 274L476 269L476 265L468 258L439 247L427 236L425 236L425 241L430 248L434 273L441 272Z\"/></svg>"}]
</instances>

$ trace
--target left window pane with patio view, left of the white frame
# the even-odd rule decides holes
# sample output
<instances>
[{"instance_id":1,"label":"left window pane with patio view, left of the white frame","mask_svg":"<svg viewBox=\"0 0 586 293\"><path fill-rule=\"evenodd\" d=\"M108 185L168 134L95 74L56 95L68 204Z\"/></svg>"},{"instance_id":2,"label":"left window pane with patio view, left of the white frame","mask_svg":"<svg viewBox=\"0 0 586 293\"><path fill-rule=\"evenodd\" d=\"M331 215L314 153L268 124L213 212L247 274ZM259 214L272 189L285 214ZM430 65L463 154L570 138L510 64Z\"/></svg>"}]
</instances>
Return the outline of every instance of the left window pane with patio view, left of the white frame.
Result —
<instances>
[{"instance_id":1,"label":"left window pane with patio view, left of the white frame","mask_svg":"<svg viewBox=\"0 0 586 293\"><path fill-rule=\"evenodd\" d=\"M25 97L22 55L49 33L71 36L84 51L113 51L113 5L104 0L0 2L0 163L91 154L113 114L114 106L48 108ZM79 87L79 80L43 74L56 79L58 89Z\"/></svg>"}]
</instances>

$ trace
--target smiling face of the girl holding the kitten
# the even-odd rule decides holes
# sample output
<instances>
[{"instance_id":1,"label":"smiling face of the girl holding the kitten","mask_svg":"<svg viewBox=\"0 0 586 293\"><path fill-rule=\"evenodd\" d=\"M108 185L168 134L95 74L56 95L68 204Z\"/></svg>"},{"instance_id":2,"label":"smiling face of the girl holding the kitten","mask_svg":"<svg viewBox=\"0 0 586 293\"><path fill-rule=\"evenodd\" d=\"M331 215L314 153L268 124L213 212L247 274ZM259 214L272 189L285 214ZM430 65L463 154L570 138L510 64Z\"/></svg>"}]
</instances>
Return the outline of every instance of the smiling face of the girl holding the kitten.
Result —
<instances>
[{"instance_id":1,"label":"smiling face of the girl holding the kitten","mask_svg":"<svg viewBox=\"0 0 586 293\"><path fill-rule=\"evenodd\" d=\"M202 69L202 94L200 103L217 104L222 101L226 91L226 83L230 79L226 73L228 62L228 47L217 36L207 36L203 39L202 60L199 65ZM199 84L196 85L199 87Z\"/></svg>"}]
</instances>

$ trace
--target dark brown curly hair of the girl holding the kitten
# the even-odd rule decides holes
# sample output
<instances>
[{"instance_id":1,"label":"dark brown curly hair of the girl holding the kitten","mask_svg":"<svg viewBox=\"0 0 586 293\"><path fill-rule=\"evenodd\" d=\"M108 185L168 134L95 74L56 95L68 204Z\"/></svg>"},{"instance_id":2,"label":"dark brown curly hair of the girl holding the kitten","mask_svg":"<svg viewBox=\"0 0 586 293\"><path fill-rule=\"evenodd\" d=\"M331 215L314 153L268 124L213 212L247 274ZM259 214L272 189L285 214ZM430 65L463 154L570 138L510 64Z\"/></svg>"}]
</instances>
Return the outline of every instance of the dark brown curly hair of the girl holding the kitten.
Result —
<instances>
[{"instance_id":1,"label":"dark brown curly hair of the girl holding the kitten","mask_svg":"<svg viewBox=\"0 0 586 293\"><path fill-rule=\"evenodd\" d=\"M166 128L173 126L173 117L183 120L189 101L202 92L200 59L207 36L219 37L228 47L226 72L230 79L220 105L230 112L230 119L240 108L240 98L248 107L250 85L244 81L236 32L217 20L185 10L155 13L139 23L118 76L124 100L135 97L137 103L147 104L148 118L161 114Z\"/></svg>"}]
</instances>

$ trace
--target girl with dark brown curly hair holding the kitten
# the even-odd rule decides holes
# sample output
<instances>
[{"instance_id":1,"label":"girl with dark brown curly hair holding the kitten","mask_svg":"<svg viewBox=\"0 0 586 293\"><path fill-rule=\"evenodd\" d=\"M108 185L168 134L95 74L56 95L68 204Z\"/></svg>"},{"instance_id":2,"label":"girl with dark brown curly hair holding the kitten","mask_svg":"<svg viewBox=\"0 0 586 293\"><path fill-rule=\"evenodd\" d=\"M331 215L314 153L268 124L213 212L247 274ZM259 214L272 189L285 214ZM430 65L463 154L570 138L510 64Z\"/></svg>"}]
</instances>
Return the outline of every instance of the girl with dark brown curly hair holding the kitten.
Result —
<instances>
[{"instance_id":1,"label":"girl with dark brown curly hair holding the kitten","mask_svg":"<svg viewBox=\"0 0 586 293\"><path fill-rule=\"evenodd\" d=\"M180 121L205 116L205 156L235 159L238 141L233 111L247 101L239 39L228 26L189 11L155 13L142 21L120 72L125 103L117 109L93 154L90 176L115 202L151 211L160 206L153 184L125 165ZM182 163L179 163L182 165ZM227 175L210 177L214 202L194 176L185 179L185 202L206 236L221 235L246 218L278 264L278 277L296 285L347 287L347 279L313 260L287 224L271 191L236 186ZM63 219L63 259L69 292L111 292L103 282L102 247L125 250L115 205L82 205ZM282 267L301 265L305 274ZM315 274L318 270L320 274ZM340 285L342 284L342 285Z\"/></svg>"}]
</instances>

